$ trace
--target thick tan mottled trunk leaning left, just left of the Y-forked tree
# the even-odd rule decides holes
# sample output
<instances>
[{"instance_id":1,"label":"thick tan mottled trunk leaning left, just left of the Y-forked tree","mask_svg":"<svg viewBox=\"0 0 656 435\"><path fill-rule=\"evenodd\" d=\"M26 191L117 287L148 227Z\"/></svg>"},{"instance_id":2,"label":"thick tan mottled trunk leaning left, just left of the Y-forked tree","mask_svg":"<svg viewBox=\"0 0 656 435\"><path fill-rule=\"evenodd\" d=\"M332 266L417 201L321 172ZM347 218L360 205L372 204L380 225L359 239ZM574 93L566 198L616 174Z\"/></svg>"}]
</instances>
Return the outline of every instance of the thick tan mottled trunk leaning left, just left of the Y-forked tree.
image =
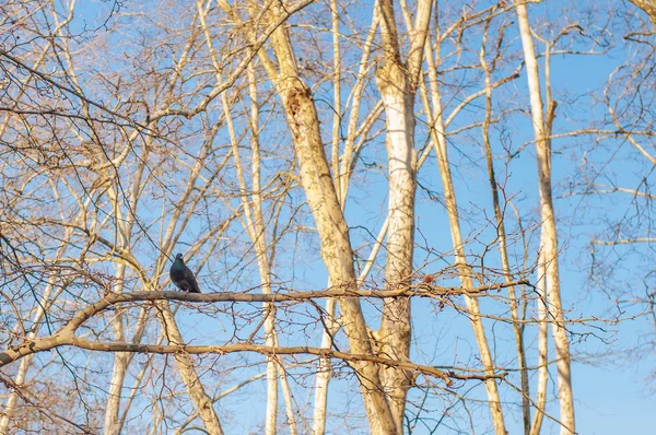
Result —
<instances>
[{"instance_id":1,"label":"thick tan mottled trunk leaning left, just left of the Y-forked tree","mask_svg":"<svg viewBox=\"0 0 656 435\"><path fill-rule=\"evenodd\" d=\"M283 13L282 3L277 2L273 11L274 17L279 19ZM279 72L261 50L260 59L284 105L301 168L301 183L317 223L321 258L332 285L352 289L356 285L356 277L349 228L330 175L312 93L298 74L289 33L284 25L273 32L271 45L278 59ZM342 326L351 351L371 354L372 345L360 301L354 297L344 297L339 301L339 305L342 313ZM352 362L351 366L355 369L360 381L371 433L397 433L396 423L378 377L378 367L366 362Z\"/></svg>"}]
</instances>

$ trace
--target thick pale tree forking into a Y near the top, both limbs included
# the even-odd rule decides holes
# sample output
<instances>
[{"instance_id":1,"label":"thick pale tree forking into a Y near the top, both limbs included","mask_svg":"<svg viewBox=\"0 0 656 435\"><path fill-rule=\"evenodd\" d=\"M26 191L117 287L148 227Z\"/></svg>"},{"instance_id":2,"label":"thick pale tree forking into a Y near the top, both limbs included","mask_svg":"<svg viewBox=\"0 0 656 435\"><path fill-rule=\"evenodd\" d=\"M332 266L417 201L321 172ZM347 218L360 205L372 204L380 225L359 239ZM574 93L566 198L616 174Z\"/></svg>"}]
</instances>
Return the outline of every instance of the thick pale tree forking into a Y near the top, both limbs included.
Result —
<instances>
[{"instance_id":1,"label":"thick pale tree forking into a Y near the top, both limbs included","mask_svg":"<svg viewBox=\"0 0 656 435\"><path fill-rule=\"evenodd\" d=\"M401 62L391 0L382 0L379 8L385 64L376 73L376 84L385 106L389 174L385 281L386 287L394 290L409 287L412 284L417 188L414 93L432 2L430 0L419 2L408 67ZM377 350L394 360L408 361L411 338L410 299L385 299L380 329L377 333L379 341ZM403 432L406 396L410 387L411 374L396 367L380 367L380 380L388 393L389 408L397 432L400 434Z\"/></svg>"}]
</instances>

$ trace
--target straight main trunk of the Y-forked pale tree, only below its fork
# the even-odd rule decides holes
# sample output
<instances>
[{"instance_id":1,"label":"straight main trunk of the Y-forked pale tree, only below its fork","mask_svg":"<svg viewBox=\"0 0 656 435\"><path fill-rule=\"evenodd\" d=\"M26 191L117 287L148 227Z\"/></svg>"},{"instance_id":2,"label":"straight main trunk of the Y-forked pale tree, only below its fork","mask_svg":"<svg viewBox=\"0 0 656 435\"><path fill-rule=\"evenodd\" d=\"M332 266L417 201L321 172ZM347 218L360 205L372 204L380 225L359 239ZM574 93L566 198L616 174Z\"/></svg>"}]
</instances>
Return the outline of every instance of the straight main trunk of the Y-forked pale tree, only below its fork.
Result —
<instances>
[{"instance_id":1,"label":"straight main trunk of the Y-forked pale tree, only below its fork","mask_svg":"<svg viewBox=\"0 0 656 435\"><path fill-rule=\"evenodd\" d=\"M408 78L397 64L378 70L376 79L386 113L389 174L385 281L387 290L395 290L412 283L417 183L414 98ZM395 360L408 361L412 338L410 325L409 298L384 299L383 319L377 334L380 341L378 352ZM396 367L380 367L380 377L383 388L389 395L389 407L397 431L402 433L406 395L411 376Z\"/></svg>"}]
</instances>

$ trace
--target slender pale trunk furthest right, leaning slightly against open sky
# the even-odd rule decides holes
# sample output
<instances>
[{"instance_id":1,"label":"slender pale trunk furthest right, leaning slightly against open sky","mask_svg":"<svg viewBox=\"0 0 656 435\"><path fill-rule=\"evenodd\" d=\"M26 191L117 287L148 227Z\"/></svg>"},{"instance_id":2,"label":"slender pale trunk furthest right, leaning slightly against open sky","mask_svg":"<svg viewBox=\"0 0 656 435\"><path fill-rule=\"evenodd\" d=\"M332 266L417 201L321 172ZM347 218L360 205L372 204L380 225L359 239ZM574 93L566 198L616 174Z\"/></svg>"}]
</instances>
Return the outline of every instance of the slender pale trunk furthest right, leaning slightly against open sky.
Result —
<instances>
[{"instance_id":1,"label":"slender pale trunk furthest right, leaning slightly against open sky","mask_svg":"<svg viewBox=\"0 0 656 435\"><path fill-rule=\"evenodd\" d=\"M530 113L536 138L536 154L538 162L538 184L540 190L541 224L541 255L546 277L546 294L549 314L552 318L551 330L555 348L558 367L558 398L560 403L561 434L575 433L574 422L574 398L572 396L572 372L570 364L570 340L563 322L563 307L560 293L560 278L558 267L558 238L555 232L555 214L551 193L551 134L549 125L551 121L544 119L542 110L542 96L540 91L540 78L538 61L531 36L530 24L526 4L516 4L519 34L524 47L526 61L526 74L528 80L528 92L530 97ZM554 106L549 102L549 113L552 118Z\"/></svg>"}]
</instances>

